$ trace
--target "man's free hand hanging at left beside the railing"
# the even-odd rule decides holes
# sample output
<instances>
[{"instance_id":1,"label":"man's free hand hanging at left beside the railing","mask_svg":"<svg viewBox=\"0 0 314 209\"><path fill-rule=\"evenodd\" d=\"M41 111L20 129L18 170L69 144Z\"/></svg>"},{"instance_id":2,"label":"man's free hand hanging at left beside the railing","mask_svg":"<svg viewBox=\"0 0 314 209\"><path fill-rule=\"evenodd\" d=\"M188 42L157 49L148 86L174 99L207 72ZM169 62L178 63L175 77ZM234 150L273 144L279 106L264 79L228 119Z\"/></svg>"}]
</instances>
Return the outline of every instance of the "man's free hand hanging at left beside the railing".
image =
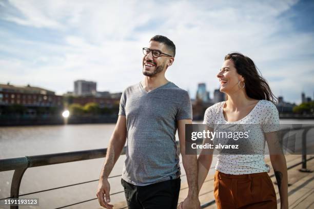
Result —
<instances>
[{"instance_id":1,"label":"man's free hand hanging at left beside the railing","mask_svg":"<svg viewBox=\"0 0 314 209\"><path fill-rule=\"evenodd\" d=\"M110 183L107 178L101 178L99 180L96 196L101 206L112 209L113 205L108 203L110 202Z\"/></svg>"}]
</instances>

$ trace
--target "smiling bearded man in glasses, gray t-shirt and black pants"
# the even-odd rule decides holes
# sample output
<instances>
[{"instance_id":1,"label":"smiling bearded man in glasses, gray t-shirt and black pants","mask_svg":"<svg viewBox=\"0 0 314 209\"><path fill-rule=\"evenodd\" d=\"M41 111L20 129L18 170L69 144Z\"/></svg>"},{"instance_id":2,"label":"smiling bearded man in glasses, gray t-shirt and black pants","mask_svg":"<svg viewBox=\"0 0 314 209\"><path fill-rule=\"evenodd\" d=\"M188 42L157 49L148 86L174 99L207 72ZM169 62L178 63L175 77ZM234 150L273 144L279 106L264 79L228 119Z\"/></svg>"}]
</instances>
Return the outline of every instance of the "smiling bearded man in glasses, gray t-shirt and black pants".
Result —
<instances>
[{"instance_id":1,"label":"smiling bearded man in glasses, gray t-shirt and black pants","mask_svg":"<svg viewBox=\"0 0 314 209\"><path fill-rule=\"evenodd\" d=\"M192 107L186 91L165 78L173 64L175 46L156 35L143 48L144 79L123 91L119 117L109 141L101 172L97 198L111 209L109 174L125 145L126 160L122 185L131 209L177 207L180 165L176 152L178 128L180 151L189 185L183 208L199 208L197 156L185 155L185 124L192 122ZM104 198L105 197L105 198Z\"/></svg>"}]
</instances>

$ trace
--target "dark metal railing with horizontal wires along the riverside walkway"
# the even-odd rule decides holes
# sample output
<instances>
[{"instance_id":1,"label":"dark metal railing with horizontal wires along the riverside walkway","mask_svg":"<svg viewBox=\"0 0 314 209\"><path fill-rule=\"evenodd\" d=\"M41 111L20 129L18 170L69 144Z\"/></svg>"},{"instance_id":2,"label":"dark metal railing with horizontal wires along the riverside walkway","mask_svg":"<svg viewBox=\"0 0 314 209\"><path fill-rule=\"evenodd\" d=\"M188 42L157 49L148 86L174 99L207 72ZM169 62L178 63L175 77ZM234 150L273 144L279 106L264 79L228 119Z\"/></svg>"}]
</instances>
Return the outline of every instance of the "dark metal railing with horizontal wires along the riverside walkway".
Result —
<instances>
[{"instance_id":1,"label":"dark metal railing with horizontal wires along the riverside walkway","mask_svg":"<svg viewBox=\"0 0 314 209\"><path fill-rule=\"evenodd\" d=\"M311 171L307 170L307 168L306 168L307 160L311 160L314 158L314 157L311 157L311 158L307 159L307 157L306 157L307 156L307 153L306 153L306 134L311 128L313 128L313 127L304 127L304 128L292 129L293 131L303 130L303 133L302 133L303 134L302 135L302 161L300 163L297 163L297 164L290 166L288 169L295 168L295 166L302 164L302 169L300 169L301 172L311 172ZM291 131L291 129L281 130L281 136L280 137L283 137L284 134L286 134L289 131ZM180 148L179 141L176 141L176 145L178 148ZM125 154L125 150L126 150L126 148L124 147L121 155ZM178 151L179 150L180 149L178 149ZM74 161L103 158L106 156L106 153L107 153L107 148L96 149L96 150L76 151L76 152L66 152L66 153L55 153L55 154L47 154L47 155L25 156L25 157L17 157L17 158L9 158L9 159L0 159L0 172L14 170L13 177L12 177L12 183L11 183L10 197L2 198L0 200L9 199L9 198L19 198L19 197L26 196L26 195L31 195L31 194L41 193L41 192L47 192L47 191L51 191L51 190L61 189L64 187L69 187L69 186L99 181L99 179L95 179L95 180L91 180L91 181L85 181L85 182L55 187L55 188L48 189L48 190L36 191L36 192L21 194L21 195L19 194L19 187L21 185L23 175L28 168L33 168L36 166L44 166L44 165L52 165L52 164L59 164L59 163L66 163L66 162L74 162ZM121 175L110 176L109 178L120 177L120 176ZM185 176L185 175L182 175L182 176ZM212 179L209 179L207 181L210 181L210 180L212 180ZM185 189L188 189L188 187L182 188L181 190L185 190ZM116 193L112 193L110 195L116 195L116 194L123 193L123 192L124 191L119 191ZM207 192L207 193L209 193L209 192ZM207 194L207 193L204 193L204 194ZM202 194L202 195L204 195L204 194ZM97 198L92 198L92 199L84 200L81 202L76 202L76 203L65 205L62 207L57 207L55 209L64 208L64 207L68 207L68 206L72 206L72 205L76 205L76 204L81 204L81 203L92 201L95 199L97 199ZM201 205L201 207L205 208L205 207L212 205L214 203L215 203L215 201L211 200L211 201ZM10 206L10 209L17 209L17 208L18 208L18 205L17 206L13 206L13 205ZM123 208L127 208L127 207L123 207ZM123 208L120 208L120 209L123 209Z\"/></svg>"}]
</instances>

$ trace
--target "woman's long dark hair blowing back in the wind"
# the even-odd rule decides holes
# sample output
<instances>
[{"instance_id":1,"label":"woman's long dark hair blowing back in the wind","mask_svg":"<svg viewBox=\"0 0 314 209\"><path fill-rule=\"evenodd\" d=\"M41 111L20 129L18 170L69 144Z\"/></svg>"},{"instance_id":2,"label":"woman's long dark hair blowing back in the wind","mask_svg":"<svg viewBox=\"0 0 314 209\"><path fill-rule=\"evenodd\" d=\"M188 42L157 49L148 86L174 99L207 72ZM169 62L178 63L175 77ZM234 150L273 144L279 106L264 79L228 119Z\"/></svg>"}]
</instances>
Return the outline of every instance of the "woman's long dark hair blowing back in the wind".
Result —
<instances>
[{"instance_id":1,"label":"woman's long dark hair blowing back in the wind","mask_svg":"<svg viewBox=\"0 0 314 209\"><path fill-rule=\"evenodd\" d=\"M271 92L267 81L257 71L252 59L239 52L233 52L225 56L225 60L232 60L239 75L244 77L245 92L253 99L266 99L276 103L277 97Z\"/></svg>"}]
</instances>

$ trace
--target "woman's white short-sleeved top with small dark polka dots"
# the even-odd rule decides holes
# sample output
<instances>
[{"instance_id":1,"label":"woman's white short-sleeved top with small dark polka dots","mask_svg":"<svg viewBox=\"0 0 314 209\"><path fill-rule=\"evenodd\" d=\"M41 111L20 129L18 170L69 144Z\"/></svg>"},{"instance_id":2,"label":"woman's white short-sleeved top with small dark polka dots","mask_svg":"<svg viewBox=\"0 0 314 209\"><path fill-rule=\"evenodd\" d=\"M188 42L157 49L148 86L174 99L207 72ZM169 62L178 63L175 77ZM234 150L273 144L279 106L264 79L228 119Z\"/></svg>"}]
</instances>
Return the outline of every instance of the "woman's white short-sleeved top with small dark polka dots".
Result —
<instances>
[{"instance_id":1,"label":"woman's white short-sleeved top with small dark polka dots","mask_svg":"<svg viewBox=\"0 0 314 209\"><path fill-rule=\"evenodd\" d=\"M267 100L260 100L253 110L241 120L228 122L224 118L224 101L207 108L203 124L207 124L214 131L222 124L252 124L247 145L254 149L254 155L219 154L215 169L225 174L251 174L268 172L269 165L265 163L265 136L264 133L279 130L279 114L276 106ZM236 125L235 125L236 126ZM237 131L241 131L241 125ZM217 143L219 143L217 139ZM215 140L214 140L215 141ZM215 142L214 142L215 143ZM245 143L244 143L245 145Z\"/></svg>"}]
</instances>

